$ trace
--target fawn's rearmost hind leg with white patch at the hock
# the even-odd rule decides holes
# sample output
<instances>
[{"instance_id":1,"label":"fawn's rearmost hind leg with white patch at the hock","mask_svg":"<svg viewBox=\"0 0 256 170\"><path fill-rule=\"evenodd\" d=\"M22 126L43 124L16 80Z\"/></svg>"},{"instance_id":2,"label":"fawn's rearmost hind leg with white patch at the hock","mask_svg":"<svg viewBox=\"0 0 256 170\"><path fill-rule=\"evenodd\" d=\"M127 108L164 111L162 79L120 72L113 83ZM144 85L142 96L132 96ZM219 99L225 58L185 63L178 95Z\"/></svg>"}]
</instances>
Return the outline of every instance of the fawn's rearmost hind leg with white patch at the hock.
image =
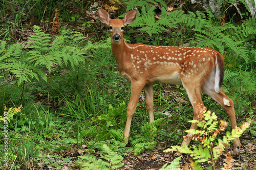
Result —
<instances>
[{"instance_id":1,"label":"fawn's rearmost hind leg with white patch at the hock","mask_svg":"<svg viewBox=\"0 0 256 170\"><path fill-rule=\"evenodd\" d=\"M224 92L220 89L219 93L216 93L214 89L212 89L212 86L209 86L208 82L204 84L202 87L202 92L208 96L210 96L212 99L214 99L216 102L222 105L224 110L227 112L228 117L231 122L232 129L236 129L237 127L237 121L236 121L236 114L234 113L234 104L233 101L225 95ZM239 155L240 154L240 140L239 138L236 138L233 140L233 155Z\"/></svg>"}]
</instances>

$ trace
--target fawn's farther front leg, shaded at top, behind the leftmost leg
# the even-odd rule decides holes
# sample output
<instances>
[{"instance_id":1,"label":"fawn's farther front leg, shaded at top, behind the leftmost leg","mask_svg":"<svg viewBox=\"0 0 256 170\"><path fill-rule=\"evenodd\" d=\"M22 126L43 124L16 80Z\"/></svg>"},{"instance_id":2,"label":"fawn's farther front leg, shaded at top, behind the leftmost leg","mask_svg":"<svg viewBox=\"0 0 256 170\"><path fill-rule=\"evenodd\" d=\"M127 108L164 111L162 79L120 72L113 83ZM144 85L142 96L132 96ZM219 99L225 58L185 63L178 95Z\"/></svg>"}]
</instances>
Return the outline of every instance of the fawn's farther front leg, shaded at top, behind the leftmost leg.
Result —
<instances>
[{"instance_id":1,"label":"fawn's farther front leg, shaded at top, behind the leftmost leg","mask_svg":"<svg viewBox=\"0 0 256 170\"><path fill-rule=\"evenodd\" d=\"M150 116L150 122L154 122L154 113L153 113L153 83L148 82L144 86L145 91L145 103L148 115Z\"/></svg>"}]
</instances>

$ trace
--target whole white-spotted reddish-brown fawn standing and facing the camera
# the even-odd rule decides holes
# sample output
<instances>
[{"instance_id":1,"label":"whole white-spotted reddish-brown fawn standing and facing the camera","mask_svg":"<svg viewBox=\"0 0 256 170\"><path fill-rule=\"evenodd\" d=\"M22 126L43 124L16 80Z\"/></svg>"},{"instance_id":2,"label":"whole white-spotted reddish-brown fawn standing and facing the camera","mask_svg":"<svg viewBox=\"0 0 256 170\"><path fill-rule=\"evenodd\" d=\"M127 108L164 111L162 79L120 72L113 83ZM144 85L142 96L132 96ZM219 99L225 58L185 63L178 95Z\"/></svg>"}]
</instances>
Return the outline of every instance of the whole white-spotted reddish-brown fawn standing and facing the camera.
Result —
<instances>
[{"instance_id":1,"label":"whole white-spotted reddish-brown fawn standing and facing the camera","mask_svg":"<svg viewBox=\"0 0 256 170\"><path fill-rule=\"evenodd\" d=\"M150 122L153 114L153 82L182 84L194 109L193 119L198 119L199 108L195 102L203 105L201 91L222 105L227 112L232 129L236 129L236 115L233 101L221 90L224 77L224 58L212 49L202 47L168 47L144 44L128 44L123 39L123 30L134 22L137 9L126 13L123 19L111 19L108 12L98 8L100 21L109 26L112 53L117 61L120 74L132 83L132 93L127 106L127 121L124 140L129 139L130 127L142 89L145 91L145 103ZM196 129L192 123L190 129ZM188 145L191 134L184 138ZM233 140L233 154L240 153L239 138Z\"/></svg>"}]
</instances>

